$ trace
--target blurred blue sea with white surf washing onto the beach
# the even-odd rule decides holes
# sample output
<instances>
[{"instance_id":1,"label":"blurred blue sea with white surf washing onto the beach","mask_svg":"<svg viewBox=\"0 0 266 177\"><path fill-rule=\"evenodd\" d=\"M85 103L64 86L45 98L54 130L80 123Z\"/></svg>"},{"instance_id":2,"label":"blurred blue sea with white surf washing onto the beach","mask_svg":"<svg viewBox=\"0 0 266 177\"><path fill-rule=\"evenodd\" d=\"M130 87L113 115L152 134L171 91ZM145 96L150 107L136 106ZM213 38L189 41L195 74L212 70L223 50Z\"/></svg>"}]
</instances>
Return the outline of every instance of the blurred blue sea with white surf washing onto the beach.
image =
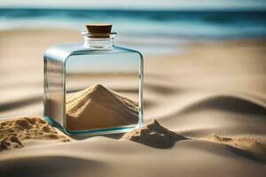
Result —
<instances>
[{"instance_id":1,"label":"blurred blue sea with white surf washing onto the beach","mask_svg":"<svg viewBox=\"0 0 266 177\"><path fill-rule=\"evenodd\" d=\"M265 37L265 17L266 12L258 11L16 8L0 9L0 30L59 27L82 31L88 21L109 22L120 34L116 40L121 44L144 53L164 54L176 52L176 46L185 42Z\"/></svg>"}]
</instances>

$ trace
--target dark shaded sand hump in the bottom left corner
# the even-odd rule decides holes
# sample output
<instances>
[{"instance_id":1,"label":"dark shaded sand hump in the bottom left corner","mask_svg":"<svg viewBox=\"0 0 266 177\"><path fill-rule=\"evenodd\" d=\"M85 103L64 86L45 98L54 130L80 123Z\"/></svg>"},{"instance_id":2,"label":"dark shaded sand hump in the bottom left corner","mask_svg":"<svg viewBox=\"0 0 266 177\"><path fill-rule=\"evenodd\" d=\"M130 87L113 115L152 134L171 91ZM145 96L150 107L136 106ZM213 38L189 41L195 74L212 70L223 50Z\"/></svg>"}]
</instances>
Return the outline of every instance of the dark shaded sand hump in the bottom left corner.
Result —
<instances>
[{"instance_id":1,"label":"dark shaded sand hump in the bottom left corner","mask_svg":"<svg viewBox=\"0 0 266 177\"><path fill-rule=\"evenodd\" d=\"M45 167L40 168L40 165ZM73 173L81 176L82 173L99 170L102 165L104 163L89 159L55 155L6 160L0 168L3 176L73 176Z\"/></svg>"}]
</instances>

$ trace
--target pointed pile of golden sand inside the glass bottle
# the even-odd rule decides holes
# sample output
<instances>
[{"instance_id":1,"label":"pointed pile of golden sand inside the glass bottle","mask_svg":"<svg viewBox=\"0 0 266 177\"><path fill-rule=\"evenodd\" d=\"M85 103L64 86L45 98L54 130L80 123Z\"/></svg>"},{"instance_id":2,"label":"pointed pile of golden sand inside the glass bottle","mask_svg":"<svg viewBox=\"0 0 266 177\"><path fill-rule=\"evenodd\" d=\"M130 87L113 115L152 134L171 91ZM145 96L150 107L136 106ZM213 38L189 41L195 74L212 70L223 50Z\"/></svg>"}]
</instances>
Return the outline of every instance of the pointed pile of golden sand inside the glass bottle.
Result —
<instances>
[{"instance_id":1,"label":"pointed pile of golden sand inside the glass bottle","mask_svg":"<svg viewBox=\"0 0 266 177\"><path fill-rule=\"evenodd\" d=\"M137 124L138 104L100 84L66 98L66 127L87 130Z\"/></svg>"}]
</instances>

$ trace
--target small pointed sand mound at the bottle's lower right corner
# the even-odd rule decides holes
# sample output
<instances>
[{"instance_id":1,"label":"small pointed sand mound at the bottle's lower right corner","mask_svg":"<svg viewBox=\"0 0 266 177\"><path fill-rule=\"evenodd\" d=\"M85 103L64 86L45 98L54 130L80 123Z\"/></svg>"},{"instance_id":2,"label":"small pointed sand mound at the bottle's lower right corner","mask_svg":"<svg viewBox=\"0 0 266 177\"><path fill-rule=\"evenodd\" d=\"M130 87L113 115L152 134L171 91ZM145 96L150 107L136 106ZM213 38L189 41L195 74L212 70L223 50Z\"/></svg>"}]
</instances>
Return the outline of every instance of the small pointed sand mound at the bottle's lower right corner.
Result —
<instances>
[{"instance_id":1,"label":"small pointed sand mound at the bottle's lower right corner","mask_svg":"<svg viewBox=\"0 0 266 177\"><path fill-rule=\"evenodd\" d=\"M137 128L123 135L122 139L140 142L153 148L167 149L172 147L176 141L187 138L160 126L159 122L154 119L145 127Z\"/></svg>"}]
</instances>

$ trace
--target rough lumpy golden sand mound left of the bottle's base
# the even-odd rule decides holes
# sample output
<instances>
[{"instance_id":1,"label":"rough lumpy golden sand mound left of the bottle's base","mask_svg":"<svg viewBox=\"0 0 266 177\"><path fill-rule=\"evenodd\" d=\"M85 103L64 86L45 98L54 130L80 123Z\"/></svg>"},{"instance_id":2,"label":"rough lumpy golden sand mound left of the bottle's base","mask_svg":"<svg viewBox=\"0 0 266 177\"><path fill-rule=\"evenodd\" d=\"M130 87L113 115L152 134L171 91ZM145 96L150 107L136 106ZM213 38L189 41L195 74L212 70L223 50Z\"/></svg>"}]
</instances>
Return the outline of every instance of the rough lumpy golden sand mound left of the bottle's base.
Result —
<instances>
[{"instance_id":1,"label":"rough lumpy golden sand mound left of the bottle's base","mask_svg":"<svg viewBox=\"0 0 266 177\"><path fill-rule=\"evenodd\" d=\"M63 135L58 135L41 118L19 118L0 122L0 151L23 147L24 140L59 140L69 142Z\"/></svg>"}]
</instances>

